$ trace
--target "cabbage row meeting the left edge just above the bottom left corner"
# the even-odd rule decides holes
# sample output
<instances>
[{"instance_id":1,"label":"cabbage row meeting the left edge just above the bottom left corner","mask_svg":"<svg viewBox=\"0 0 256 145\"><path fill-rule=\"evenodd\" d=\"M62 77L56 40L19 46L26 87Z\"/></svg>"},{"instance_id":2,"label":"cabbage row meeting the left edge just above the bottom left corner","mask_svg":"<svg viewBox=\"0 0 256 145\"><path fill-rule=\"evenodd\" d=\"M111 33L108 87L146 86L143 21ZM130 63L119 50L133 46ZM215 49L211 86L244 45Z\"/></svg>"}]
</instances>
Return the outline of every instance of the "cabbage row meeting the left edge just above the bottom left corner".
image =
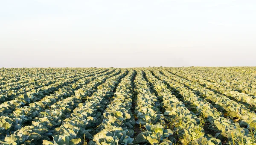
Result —
<instances>
[{"instance_id":1,"label":"cabbage row meeting the left edge just above the bottom left corner","mask_svg":"<svg viewBox=\"0 0 256 145\"><path fill-rule=\"evenodd\" d=\"M14 110L12 114L4 114L0 117L1 120L8 120L5 123L5 132L2 131L2 135L13 133L20 129L23 124L31 124L32 119L35 117L41 116L42 112L45 112L47 109L52 108L55 103L61 102L63 99L72 96L74 91L78 89L80 86L86 85L90 81L96 79L96 77L100 77L103 75L108 75L110 72L105 72L102 74L94 74L94 76L85 75L85 78L80 79L76 82L76 84L70 84L69 86L64 86L59 90L55 91L54 94L50 96L45 96L38 102L33 102L29 104L29 106L25 106L22 108L17 108ZM12 123L11 123L12 122Z\"/></svg>"}]
</instances>

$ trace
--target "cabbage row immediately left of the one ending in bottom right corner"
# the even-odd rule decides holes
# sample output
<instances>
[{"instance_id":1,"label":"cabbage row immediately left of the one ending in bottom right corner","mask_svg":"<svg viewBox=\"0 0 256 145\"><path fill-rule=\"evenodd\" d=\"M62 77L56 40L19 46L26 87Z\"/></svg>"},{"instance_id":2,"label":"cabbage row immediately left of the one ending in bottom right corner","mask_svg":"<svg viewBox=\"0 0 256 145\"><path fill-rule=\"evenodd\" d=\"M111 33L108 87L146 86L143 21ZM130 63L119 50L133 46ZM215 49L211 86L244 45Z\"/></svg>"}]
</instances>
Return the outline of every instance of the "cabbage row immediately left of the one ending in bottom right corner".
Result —
<instances>
[{"instance_id":1,"label":"cabbage row immediately left of the one ending in bottom right corner","mask_svg":"<svg viewBox=\"0 0 256 145\"><path fill-rule=\"evenodd\" d=\"M187 144L221 144L219 139L215 139L209 134L204 133L204 122L202 118L198 118L193 112L189 111L185 105L174 96L171 90L163 81L155 78L152 73L145 70L145 76L152 85L154 91L161 100L161 107L166 120L169 122L169 128L172 128L179 142ZM177 139L178 140L178 139Z\"/></svg>"}]
</instances>

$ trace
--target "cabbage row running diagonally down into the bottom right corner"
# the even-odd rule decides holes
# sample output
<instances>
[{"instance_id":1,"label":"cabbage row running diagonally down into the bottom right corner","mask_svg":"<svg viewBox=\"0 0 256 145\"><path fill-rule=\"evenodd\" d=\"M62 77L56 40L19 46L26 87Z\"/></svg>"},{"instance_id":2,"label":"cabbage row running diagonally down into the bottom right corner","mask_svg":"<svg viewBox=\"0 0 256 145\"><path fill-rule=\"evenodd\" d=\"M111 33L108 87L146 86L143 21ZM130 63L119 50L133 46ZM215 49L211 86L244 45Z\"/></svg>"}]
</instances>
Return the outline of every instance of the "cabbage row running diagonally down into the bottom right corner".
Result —
<instances>
[{"instance_id":1,"label":"cabbage row running diagonally down into the bottom right corner","mask_svg":"<svg viewBox=\"0 0 256 145\"><path fill-rule=\"evenodd\" d=\"M176 91L177 95L180 94L182 96L180 99L185 102L190 110L195 112L195 114L202 114L202 117L209 123L207 129L214 131L213 135L216 138L221 139L222 142L225 142L225 140L236 143L246 142L248 145L255 142L248 129L242 128L239 126L239 123L225 118L224 113L219 112L212 104L207 102L207 99L193 93L184 84L172 80L174 76L170 76L170 73L164 72L165 75L163 75L160 72L153 71L153 74L160 80L163 80L165 84L168 84L173 91Z\"/></svg>"}]
</instances>

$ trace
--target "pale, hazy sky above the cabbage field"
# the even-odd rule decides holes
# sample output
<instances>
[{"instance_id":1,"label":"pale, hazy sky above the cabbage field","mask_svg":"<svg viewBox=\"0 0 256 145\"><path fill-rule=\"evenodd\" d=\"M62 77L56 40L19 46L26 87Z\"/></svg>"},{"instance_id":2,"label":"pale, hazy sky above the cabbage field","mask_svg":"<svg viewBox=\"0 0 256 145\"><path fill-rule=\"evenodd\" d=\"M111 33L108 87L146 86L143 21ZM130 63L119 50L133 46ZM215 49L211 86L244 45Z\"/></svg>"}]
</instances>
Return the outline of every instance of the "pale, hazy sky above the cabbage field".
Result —
<instances>
[{"instance_id":1,"label":"pale, hazy sky above the cabbage field","mask_svg":"<svg viewBox=\"0 0 256 145\"><path fill-rule=\"evenodd\" d=\"M256 66L256 0L0 0L0 67Z\"/></svg>"}]
</instances>

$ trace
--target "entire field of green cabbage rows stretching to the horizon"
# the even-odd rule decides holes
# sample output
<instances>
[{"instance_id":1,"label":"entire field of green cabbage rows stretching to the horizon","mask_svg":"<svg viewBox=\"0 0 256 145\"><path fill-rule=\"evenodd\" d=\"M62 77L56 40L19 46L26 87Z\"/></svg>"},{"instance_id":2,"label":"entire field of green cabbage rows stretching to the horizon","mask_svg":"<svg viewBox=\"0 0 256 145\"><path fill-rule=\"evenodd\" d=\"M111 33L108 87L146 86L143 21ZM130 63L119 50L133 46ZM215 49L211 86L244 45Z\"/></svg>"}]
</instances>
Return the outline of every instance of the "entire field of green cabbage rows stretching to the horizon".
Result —
<instances>
[{"instance_id":1,"label":"entire field of green cabbage rows stretching to the horizon","mask_svg":"<svg viewBox=\"0 0 256 145\"><path fill-rule=\"evenodd\" d=\"M2 68L1 145L256 145L256 67Z\"/></svg>"}]
</instances>

